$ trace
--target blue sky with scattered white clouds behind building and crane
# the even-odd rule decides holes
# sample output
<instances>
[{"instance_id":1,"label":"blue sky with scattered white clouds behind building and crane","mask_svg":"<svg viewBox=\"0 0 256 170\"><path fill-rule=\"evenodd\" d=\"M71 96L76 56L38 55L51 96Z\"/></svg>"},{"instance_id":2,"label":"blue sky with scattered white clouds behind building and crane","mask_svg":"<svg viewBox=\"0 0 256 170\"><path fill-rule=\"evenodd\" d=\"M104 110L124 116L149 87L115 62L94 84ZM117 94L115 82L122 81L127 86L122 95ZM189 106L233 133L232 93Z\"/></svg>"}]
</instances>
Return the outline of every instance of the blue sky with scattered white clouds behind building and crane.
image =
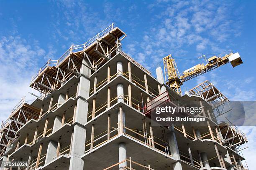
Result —
<instances>
[{"instance_id":1,"label":"blue sky with scattered white clouds behind building and crane","mask_svg":"<svg viewBox=\"0 0 256 170\"><path fill-rule=\"evenodd\" d=\"M239 52L243 65L224 65L185 82L182 91L209 80L230 100L255 100L255 7L255 1L0 1L0 119L24 95L33 100L28 85L46 60L111 23L128 35L123 50L153 74L170 53L182 72L205 62L197 58L203 54ZM256 127L243 128L256 142ZM247 163L256 160L256 147L249 147Z\"/></svg>"}]
</instances>

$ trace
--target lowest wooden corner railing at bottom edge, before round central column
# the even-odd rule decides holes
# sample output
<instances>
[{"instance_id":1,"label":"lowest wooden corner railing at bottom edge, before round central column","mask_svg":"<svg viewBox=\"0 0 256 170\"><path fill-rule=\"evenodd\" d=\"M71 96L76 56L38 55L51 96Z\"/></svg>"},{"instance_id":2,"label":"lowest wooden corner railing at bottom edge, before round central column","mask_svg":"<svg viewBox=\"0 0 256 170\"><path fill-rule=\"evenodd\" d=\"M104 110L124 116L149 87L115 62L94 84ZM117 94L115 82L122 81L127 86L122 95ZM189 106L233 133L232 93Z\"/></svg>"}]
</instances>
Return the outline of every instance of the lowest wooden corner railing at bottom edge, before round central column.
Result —
<instances>
[{"instance_id":1,"label":"lowest wooden corner railing at bottom edge, before round central column","mask_svg":"<svg viewBox=\"0 0 256 170\"><path fill-rule=\"evenodd\" d=\"M119 170L136 170L136 169L137 170L154 170L153 168L150 167L150 165L146 166L146 165L142 165L140 163L133 161L131 157L129 159L125 159L125 160L120 161L119 163L111 165L110 167L105 168L103 170L115 169L115 168L119 167L120 164L123 164L123 163L126 163L127 166L125 166L123 169L119 168Z\"/></svg>"}]
</instances>

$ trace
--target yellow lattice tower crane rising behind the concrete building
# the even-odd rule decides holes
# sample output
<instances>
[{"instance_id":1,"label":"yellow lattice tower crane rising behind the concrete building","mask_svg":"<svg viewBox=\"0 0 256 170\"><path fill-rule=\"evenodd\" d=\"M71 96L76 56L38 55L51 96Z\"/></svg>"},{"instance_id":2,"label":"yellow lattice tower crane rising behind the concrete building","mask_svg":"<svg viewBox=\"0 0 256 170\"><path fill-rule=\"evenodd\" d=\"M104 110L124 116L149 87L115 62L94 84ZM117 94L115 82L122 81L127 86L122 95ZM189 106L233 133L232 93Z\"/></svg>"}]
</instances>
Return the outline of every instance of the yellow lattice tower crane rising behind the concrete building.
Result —
<instances>
[{"instance_id":1,"label":"yellow lattice tower crane rising behind the concrete building","mask_svg":"<svg viewBox=\"0 0 256 170\"><path fill-rule=\"evenodd\" d=\"M163 61L164 61L164 75L165 75L166 84L169 85L170 88L175 92L177 92L179 95L182 95L180 86L183 84L183 82L190 80L192 78L195 78L199 75L202 75L217 67L225 65L228 62L230 62L233 67L236 67L243 63L238 52L234 54L233 52L230 52L229 54L226 54L224 57L217 57L217 56L210 57L207 60L208 62L206 63L206 65L204 64L195 65L194 67L191 67L185 70L182 73L182 75L179 75L179 70L177 68L177 65L172 55L168 55L164 57Z\"/></svg>"}]
</instances>

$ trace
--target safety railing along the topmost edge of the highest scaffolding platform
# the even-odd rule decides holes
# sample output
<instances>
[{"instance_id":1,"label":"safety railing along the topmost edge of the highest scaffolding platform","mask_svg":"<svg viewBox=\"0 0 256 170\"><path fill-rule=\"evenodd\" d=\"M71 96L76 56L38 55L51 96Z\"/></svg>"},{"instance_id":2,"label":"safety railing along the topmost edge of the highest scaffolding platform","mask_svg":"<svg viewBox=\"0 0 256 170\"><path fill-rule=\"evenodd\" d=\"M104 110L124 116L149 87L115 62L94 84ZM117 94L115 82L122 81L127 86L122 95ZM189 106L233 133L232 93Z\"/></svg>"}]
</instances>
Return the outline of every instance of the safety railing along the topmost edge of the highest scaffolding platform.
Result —
<instances>
[{"instance_id":1,"label":"safety railing along the topmost edge of the highest scaffolding platform","mask_svg":"<svg viewBox=\"0 0 256 170\"><path fill-rule=\"evenodd\" d=\"M108 32L112 31L114 29L114 24L112 23L110 26L108 26L107 28L105 28L103 31L97 33L94 37L92 37L90 40L88 40L87 42L84 42L84 44L81 45L72 45L71 47L69 47L69 49L64 52L63 55L61 55L61 57L58 60L51 60L49 59L46 64L40 68L40 70L33 75L31 82L33 82L39 75L41 72L44 72L44 70L49 67L49 66L56 66L58 67L61 62L63 60L65 60L66 57L68 57L72 52L78 52L78 51L82 51L84 49L86 49L86 47L89 47L90 45L92 45L92 43L96 42L97 39L99 39L100 37L103 37L104 35L108 34Z\"/></svg>"}]
</instances>

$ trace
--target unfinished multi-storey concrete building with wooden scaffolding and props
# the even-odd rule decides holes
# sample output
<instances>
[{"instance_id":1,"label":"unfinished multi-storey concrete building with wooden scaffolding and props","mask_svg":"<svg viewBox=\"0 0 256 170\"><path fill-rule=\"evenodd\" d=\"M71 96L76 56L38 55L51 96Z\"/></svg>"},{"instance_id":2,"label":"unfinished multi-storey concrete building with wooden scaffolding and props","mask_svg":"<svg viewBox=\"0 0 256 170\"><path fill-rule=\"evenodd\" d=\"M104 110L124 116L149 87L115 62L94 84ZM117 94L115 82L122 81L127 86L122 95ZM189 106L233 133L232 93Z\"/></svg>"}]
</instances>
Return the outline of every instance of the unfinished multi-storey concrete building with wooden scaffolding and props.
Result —
<instances>
[{"instance_id":1,"label":"unfinished multi-storey concrete building with wooden scaffolding and props","mask_svg":"<svg viewBox=\"0 0 256 170\"><path fill-rule=\"evenodd\" d=\"M248 169L246 136L216 120L227 97L208 81L182 95L166 84L161 67L154 78L122 51L125 37L112 24L40 68L30 84L36 100L21 100L0 131L1 161L27 165L2 163L1 170ZM170 71L171 62L164 63ZM203 107L197 116L205 126L151 125L152 101L192 100Z\"/></svg>"}]
</instances>

